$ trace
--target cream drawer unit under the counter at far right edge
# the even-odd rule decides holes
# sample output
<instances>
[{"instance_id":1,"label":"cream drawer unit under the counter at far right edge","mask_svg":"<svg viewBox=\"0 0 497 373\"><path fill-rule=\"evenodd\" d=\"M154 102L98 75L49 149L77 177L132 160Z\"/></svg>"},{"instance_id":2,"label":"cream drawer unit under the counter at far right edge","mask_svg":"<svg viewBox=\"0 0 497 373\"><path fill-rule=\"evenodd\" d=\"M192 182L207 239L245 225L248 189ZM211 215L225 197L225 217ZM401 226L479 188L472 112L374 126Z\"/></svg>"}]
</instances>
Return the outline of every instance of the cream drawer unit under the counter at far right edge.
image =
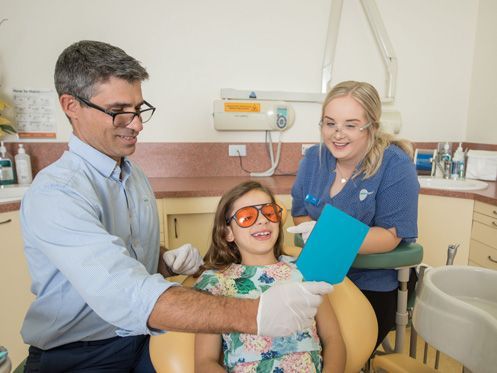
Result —
<instances>
[{"instance_id":1,"label":"cream drawer unit under the counter at far right edge","mask_svg":"<svg viewBox=\"0 0 497 373\"><path fill-rule=\"evenodd\" d=\"M497 206L475 202L469 262L497 270Z\"/></svg>"}]
</instances>

